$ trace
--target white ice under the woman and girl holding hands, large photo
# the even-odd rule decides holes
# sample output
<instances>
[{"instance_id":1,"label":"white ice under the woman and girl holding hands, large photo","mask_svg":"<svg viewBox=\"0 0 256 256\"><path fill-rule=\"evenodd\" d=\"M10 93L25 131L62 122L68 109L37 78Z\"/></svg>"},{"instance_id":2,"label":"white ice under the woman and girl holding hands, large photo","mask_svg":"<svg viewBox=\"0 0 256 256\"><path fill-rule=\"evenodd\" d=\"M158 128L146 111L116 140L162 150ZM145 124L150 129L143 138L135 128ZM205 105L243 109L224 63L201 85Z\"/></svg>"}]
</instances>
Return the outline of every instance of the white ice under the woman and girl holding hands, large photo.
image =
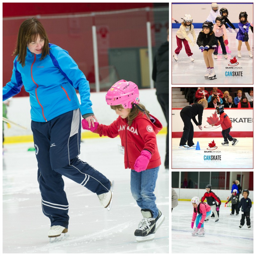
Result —
<instances>
[{"instance_id":1,"label":"white ice under the woman and girl holding hands, large photo","mask_svg":"<svg viewBox=\"0 0 256 256\"><path fill-rule=\"evenodd\" d=\"M157 135L164 162L165 135ZM160 166L156 204L165 221L153 241L138 243L134 231L142 215L130 191L130 171L118 153L120 138L87 139L79 158L115 180L111 211L88 189L63 177L69 202L69 238L49 244L50 220L41 208L33 143L7 144L3 155L3 253L168 253L169 172Z\"/></svg>"}]
</instances>

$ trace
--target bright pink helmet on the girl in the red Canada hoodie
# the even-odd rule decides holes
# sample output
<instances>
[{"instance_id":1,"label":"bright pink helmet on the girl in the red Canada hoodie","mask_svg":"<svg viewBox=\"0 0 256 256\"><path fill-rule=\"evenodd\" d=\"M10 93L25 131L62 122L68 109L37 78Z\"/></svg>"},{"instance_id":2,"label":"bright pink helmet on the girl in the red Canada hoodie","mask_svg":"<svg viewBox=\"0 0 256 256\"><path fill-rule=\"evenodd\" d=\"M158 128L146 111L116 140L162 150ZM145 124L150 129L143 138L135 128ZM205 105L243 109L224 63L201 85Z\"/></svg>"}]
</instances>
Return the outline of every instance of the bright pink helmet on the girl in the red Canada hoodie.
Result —
<instances>
[{"instance_id":1,"label":"bright pink helmet on the girl in the red Canada hoodie","mask_svg":"<svg viewBox=\"0 0 256 256\"><path fill-rule=\"evenodd\" d=\"M132 108L132 105L139 104L139 89L133 82L120 80L108 90L106 94L108 105L122 105L124 108Z\"/></svg>"}]
</instances>

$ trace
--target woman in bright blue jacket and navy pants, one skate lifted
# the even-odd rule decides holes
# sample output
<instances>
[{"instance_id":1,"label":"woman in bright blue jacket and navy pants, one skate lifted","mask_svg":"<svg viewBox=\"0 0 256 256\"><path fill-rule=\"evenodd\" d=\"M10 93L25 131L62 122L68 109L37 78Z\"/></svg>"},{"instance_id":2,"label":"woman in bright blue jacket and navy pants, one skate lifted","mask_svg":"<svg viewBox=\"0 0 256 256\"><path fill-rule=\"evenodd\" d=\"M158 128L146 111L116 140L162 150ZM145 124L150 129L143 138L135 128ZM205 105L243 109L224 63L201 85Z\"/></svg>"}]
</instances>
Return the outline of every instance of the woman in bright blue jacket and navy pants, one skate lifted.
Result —
<instances>
[{"instance_id":1,"label":"woman in bright blue jacket and navy pants, one skate lifted","mask_svg":"<svg viewBox=\"0 0 256 256\"><path fill-rule=\"evenodd\" d=\"M20 25L13 55L12 77L3 88L3 100L19 93L23 85L29 92L42 209L51 220L48 236L57 237L68 231L69 220L62 175L96 193L108 210L111 206L111 182L78 158L81 114L90 127L97 121L90 87L68 52L49 44L43 25L35 18Z\"/></svg>"}]
</instances>

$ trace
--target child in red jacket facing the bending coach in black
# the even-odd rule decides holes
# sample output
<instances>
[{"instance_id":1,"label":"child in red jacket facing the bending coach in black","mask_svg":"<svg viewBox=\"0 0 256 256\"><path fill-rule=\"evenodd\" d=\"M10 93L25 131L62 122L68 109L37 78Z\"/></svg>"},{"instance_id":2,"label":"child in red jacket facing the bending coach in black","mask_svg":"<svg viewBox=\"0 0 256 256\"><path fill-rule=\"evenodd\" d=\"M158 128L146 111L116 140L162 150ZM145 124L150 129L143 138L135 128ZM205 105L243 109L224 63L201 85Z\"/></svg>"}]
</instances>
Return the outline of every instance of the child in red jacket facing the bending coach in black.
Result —
<instances>
[{"instance_id":1,"label":"child in red jacket facing the bending coach in black","mask_svg":"<svg viewBox=\"0 0 256 256\"><path fill-rule=\"evenodd\" d=\"M216 124L212 124L212 126L221 125L222 128L222 136L224 138L224 142L221 143L222 146L228 146L228 140L232 141L232 146L235 146L238 142L237 139L233 138L229 132L232 128L231 121L226 113L224 113L224 107L222 105L218 105L216 107L216 113L220 115L220 121Z\"/></svg>"}]
</instances>

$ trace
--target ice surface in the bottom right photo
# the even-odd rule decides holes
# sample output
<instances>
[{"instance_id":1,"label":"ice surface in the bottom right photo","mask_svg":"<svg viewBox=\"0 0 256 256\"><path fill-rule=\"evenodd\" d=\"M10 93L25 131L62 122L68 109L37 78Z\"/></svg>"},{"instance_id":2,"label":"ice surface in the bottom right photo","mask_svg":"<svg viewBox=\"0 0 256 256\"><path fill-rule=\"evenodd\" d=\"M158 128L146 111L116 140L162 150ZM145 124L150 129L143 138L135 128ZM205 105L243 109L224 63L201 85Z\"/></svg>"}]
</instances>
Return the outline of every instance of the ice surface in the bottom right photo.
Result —
<instances>
[{"instance_id":1,"label":"ice surface in the bottom right photo","mask_svg":"<svg viewBox=\"0 0 256 256\"><path fill-rule=\"evenodd\" d=\"M241 199L241 196L240 196ZM251 230L246 220L243 228L239 228L239 214L230 215L231 207L220 206L219 222L214 218L204 222L203 237L192 236L191 220L193 207L189 201L179 201L172 210L172 253L204 253L220 254L253 253L253 204L250 212ZM195 226L194 226L195 227Z\"/></svg>"}]
</instances>

